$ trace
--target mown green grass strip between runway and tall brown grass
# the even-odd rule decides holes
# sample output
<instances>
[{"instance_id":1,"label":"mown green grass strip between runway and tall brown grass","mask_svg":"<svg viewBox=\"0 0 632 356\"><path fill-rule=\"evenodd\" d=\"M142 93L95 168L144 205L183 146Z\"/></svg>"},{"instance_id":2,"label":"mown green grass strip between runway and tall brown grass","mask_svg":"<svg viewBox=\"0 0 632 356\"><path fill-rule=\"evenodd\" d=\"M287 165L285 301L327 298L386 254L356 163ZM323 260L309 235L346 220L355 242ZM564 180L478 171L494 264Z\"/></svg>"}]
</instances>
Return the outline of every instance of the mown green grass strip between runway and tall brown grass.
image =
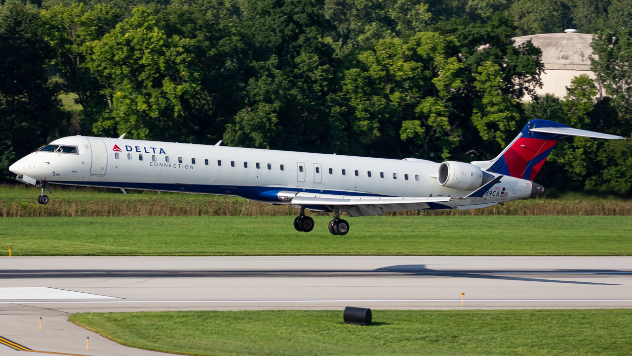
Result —
<instances>
[{"instance_id":1,"label":"mown green grass strip between runway and tall brown grass","mask_svg":"<svg viewBox=\"0 0 632 356\"><path fill-rule=\"evenodd\" d=\"M632 217L356 217L346 236L317 216L0 219L13 255L632 255ZM6 246L6 247L5 247Z\"/></svg>"}]
</instances>

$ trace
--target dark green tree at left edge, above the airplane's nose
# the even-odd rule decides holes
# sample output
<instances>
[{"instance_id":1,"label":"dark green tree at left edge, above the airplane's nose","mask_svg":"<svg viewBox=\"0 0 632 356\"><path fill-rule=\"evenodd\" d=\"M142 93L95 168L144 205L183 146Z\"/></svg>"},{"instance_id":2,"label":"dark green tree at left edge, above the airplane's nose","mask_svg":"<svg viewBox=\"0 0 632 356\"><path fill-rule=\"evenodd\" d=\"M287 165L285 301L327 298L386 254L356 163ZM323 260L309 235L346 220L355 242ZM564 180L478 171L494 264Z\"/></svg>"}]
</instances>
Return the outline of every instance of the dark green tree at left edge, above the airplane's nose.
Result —
<instances>
[{"instance_id":1,"label":"dark green tree at left edge, above the airplane's nose","mask_svg":"<svg viewBox=\"0 0 632 356\"><path fill-rule=\"evenodd\" d=\"M49 78L52 51L41 35L37 8L0 4L0 175L38 145L64 134L58 80Z\"/></svg>"}]
</instances>

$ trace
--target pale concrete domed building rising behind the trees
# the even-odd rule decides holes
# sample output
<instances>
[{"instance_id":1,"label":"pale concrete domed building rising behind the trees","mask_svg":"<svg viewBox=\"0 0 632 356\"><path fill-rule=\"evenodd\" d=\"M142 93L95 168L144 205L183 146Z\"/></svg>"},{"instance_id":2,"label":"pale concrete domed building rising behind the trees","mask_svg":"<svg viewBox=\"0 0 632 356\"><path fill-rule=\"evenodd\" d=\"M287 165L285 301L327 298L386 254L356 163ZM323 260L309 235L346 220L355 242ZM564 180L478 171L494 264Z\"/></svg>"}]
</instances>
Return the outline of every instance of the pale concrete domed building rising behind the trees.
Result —
<instances>
[{"instance_id":1,"label":"pale concrete domed building rising behind the trees","mask_svg":"<svg viewBox=\"0 0 632 356\"><path fill-rule=\"evenodd\" d=\"M513 39L516 41L514 46L531 40L534 46L542 49L542 63L545 69L540 77L542 88L535 90L537 94L549 92L563 98L566 96L566 87L571 85L574 77L581 74L587 74L591 79L596 77L590 70L590 59L588 59L588 56L592 54L592 48L590 48L592 38L592 34L564 32L526 35Z\"/></svg>"}]
</instances>

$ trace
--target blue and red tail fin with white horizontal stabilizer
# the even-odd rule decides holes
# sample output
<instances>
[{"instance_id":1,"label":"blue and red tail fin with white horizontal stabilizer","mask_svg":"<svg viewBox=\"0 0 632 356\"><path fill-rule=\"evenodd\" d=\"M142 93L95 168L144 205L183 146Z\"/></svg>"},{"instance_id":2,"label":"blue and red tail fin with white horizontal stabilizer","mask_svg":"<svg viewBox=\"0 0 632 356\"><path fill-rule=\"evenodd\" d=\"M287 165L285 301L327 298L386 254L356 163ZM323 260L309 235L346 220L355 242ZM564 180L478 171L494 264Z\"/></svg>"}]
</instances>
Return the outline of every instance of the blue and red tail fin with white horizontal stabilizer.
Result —
<instances>
[{"instance_id":1,"label":"blue and red tail fin with white horizontal stabilizer","mask_svg":"<svg viewBox=\"0 0 632 356\"><path fill-rule=\"evenodd\" d=\"M557 141L568 136L584 136L600 139L625 139L625 137L573 129L559 122L531 120L518 137L501 154L490 161L475 161L473 165L487 172L509 175L533 181L546 162Z\"/></svg>"}]
</instances>

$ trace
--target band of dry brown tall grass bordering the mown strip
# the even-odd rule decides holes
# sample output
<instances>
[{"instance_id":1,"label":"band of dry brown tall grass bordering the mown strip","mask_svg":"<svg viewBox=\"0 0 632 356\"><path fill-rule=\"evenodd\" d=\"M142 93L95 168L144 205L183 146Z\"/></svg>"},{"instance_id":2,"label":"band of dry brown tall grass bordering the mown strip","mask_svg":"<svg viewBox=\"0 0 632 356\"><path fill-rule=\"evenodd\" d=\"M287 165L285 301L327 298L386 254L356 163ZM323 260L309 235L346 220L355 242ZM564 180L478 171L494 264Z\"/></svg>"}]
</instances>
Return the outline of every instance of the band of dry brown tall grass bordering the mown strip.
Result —
<instances>
[{"instance_id":1,"label":"band of dry brown tall grass bordering the mown strip","mask_svg":"<svg viewBox=\"0 0 632 356\"><path fill-rule=\"evenodd\" d=\"M51 200L40 205L35 199L19 201L0 199L2 217L147 217L147 216L292 216L298 209L287 205L270 205L231 197L209 200L150 198L147 200ZM445 215L632 215L632 201L518 200L472 210L404 210L387 216Z\"/></svg>"}]
</instances>

